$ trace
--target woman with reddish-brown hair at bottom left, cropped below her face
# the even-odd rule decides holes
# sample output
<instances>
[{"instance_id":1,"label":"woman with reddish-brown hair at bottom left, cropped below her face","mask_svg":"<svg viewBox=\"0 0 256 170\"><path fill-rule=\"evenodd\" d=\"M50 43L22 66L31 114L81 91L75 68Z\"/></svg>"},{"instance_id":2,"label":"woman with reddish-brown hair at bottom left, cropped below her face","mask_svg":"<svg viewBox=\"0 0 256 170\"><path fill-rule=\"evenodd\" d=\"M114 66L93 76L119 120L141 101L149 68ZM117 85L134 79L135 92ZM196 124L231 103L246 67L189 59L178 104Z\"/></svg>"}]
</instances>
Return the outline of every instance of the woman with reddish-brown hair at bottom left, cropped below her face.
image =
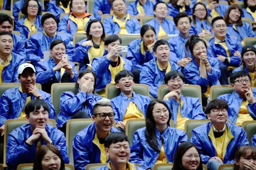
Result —
<instances>
[{"instance_id":1,"label":"woman with reddish-brown hair at bottom left, cropped below her face","mask_svg":"<svg viewBox=\"0 0 256 170\"><path fill-rule=\"evenodd\" d=\"M59 150L52 144L42 145L36 153L33 170L65 170L65 163Z\"/></svg>"}]
</instances>

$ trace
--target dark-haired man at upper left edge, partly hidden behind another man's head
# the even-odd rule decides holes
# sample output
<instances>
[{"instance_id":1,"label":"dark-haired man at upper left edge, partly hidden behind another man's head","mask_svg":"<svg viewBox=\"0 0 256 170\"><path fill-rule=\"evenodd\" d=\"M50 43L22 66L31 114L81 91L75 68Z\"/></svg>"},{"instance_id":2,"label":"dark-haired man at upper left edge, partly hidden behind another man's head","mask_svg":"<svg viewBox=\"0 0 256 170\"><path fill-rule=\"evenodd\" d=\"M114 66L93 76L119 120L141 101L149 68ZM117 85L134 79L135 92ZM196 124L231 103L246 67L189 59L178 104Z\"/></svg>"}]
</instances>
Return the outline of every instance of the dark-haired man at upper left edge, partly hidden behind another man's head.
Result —
<instances>
[{"instance_id":1,"label":"dark-haired man at upper left edge, partly hidden behind another man's head","mask_svg":"<svg viewBox=\"0 0 256 170\"><path fill-rule=\"evenodd\" d=\"M14 33L12 27L12 18L8 15L0 15L0 33L2 32L9 32L12 34L13 37L13 49L12 52L16 53L20 56L23 56L26 59L26 51L25 51L25 44L27 42L24 39Z\"/></svg>"}]
</instances>

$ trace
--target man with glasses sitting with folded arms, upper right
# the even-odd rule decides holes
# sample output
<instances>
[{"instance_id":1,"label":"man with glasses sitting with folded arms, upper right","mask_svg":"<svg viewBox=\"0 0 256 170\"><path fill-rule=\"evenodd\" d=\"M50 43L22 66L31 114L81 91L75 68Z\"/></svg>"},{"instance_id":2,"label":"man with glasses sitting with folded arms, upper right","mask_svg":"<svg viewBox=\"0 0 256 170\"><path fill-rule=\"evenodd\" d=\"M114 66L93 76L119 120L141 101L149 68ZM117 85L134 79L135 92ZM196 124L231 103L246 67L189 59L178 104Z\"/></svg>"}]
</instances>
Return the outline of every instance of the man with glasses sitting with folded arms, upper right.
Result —
<instances>
[{"instance_id":1,"label":"man with glasses sitting with folded arms, upper right","mask_svg":"<svg viewBox=\"0 0 256 170\"><path fill-rule=\"evenodd\" d=\"M219 60L221 70L219 81L222 85L228 85L232 70L240 65L243 46L239 39L227 36L227 25L222 16L212 19L211 31L214 37L208 42L214 57Z\"/></svg>"}]
</instances>

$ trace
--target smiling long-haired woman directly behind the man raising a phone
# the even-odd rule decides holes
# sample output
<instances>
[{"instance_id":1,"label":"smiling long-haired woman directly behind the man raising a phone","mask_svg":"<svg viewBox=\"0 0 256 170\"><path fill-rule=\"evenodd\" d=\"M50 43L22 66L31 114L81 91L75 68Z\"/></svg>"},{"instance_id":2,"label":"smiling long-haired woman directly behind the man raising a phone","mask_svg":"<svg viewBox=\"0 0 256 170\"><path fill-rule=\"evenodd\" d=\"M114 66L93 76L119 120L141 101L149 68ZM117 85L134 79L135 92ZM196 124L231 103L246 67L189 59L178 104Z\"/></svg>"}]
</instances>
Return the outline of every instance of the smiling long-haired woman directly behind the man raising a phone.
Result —
<instances>
[{"instance_id":1,"label":"smiling long-haired woman directly behind the man raising a phone","mask_svg":"<svg viewBox=\"0 0 256 170\"><path fill-rule=\"evenodd\" d=\"M78 42L75 46L74 61L79 63L79 72L90 69L95 57L107 55L105 51L105 31L102 23L93 19L88 23L87 38Z\"/></svg>"}]
</instances>

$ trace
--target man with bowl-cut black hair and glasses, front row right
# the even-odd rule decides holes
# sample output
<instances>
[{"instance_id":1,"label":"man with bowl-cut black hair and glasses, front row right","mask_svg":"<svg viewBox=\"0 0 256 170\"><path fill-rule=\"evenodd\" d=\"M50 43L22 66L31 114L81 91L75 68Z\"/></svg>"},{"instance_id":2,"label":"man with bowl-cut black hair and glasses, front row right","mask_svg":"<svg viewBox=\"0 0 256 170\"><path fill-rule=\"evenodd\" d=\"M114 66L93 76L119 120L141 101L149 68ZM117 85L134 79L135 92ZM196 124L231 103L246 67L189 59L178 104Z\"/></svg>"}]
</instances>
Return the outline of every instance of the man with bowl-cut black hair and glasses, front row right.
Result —
<instances>
[{"instance_id":1,"label":"man with bowl-cut black hair and glasses, front row right","mask_svg":"<svg viewBox=\"0 0 256 170\"><path fill-rule=\"evenodd\" d=\"M227 122L227 110L227 102L212 100L206 106L210 122L192 130L190 142L200 150L207 169L217 170L221 164L234 163L236 151L242 145L249 145L245 130Z\"/></svg>"}]
</instances>

